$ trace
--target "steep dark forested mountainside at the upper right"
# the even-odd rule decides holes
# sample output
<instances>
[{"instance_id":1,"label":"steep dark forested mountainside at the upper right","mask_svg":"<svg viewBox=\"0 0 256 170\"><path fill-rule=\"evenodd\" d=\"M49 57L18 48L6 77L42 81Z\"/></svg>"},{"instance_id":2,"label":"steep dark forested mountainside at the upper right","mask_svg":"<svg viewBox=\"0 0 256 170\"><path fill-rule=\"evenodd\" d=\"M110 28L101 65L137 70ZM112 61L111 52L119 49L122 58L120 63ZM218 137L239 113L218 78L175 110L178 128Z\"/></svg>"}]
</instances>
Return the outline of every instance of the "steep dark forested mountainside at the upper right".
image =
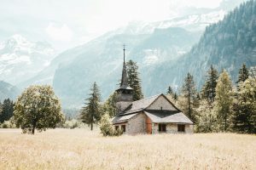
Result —
<instances>
[{"instance_id":1,"label":"steep dark forested mountainside at the upper right","mask_svg":"<svg viewBox=\"0 0 256 170\"><path fill-rule=\"evenodd\" d=\"M224 20L208 26L201 40L188 54L154 67L151 71L154 72L154 81L147 83L155 87L155 82L161 81L158 89L165 88L168 83L181 86L183 78L190 72L198 88L201 88L210 65L218 71L226 69L233 82L236 82L243 63L248 68L256 65L256 1L242 3ZM165 75L170 77L169 81L162 81Z\"/></svg>"}]
</instances>

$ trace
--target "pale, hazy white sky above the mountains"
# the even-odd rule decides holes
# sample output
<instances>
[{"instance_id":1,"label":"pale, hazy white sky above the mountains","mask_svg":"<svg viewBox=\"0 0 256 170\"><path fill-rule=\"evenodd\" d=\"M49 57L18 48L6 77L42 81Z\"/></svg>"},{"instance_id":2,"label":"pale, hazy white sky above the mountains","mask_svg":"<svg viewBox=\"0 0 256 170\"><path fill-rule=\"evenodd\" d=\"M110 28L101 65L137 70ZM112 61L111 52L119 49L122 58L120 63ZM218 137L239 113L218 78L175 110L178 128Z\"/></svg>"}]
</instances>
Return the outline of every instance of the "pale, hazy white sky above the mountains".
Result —
<instances>
[{"instance_id":1,"label":"pale, hazy white sky above the mountains","mask_svg":"<svg viewBox=\"0 0 256 170\"><path fill-rule=\"evenodd\" d=\"M20 34L61 51L131 21L168 20L222 0L1 0L0 40Z\"/></svg>"}]
</instances>

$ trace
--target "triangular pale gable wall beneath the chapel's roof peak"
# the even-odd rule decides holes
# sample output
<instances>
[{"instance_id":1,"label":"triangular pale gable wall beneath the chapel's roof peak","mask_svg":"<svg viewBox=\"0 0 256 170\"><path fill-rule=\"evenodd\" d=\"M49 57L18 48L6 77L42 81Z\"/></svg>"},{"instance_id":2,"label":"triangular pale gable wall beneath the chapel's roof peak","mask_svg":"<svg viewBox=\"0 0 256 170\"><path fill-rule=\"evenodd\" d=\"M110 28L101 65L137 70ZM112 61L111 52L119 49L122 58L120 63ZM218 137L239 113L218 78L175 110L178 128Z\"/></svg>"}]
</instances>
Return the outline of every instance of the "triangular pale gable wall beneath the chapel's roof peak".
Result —
<instances>
[{"instance_id":1,"label":"triangular pale gable wall beneath the chapel's roof peak","mask_svg":"<svg viewBox=\"0 0 256 170\"><path fill-rule=\"evenodd\" d=\"M148 110L160 110L161 107L166 111L177 111L163 96L156 99L154 103L148 107Z\"/></svg>"}]
</instances>

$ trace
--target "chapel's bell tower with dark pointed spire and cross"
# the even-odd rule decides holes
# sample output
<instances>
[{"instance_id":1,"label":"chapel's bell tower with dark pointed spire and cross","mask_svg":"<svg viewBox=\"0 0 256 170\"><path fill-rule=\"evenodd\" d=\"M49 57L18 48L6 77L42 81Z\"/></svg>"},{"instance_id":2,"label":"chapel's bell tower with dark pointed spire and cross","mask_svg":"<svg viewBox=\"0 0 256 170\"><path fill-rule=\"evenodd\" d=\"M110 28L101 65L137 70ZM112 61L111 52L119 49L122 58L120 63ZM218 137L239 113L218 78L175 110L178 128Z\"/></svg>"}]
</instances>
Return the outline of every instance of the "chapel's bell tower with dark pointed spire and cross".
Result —
<instances>
[{"instance_id":1,"label":"chapel's bell tower with dark pointed spire and cross","mask_svg":"<svg viewBox=\"0 0 256 170\"><path fill-rule=\"evenodd\" d=\"M117 114L121 114L133 101L133 88L131 88L128 84L127 78L127 71L125 65L125 44L124 44L124 63L123 63L123 71L122 71L122 79L120 83L119 89L116 90L117 92Z\"/></svg>"}]
</instances>

